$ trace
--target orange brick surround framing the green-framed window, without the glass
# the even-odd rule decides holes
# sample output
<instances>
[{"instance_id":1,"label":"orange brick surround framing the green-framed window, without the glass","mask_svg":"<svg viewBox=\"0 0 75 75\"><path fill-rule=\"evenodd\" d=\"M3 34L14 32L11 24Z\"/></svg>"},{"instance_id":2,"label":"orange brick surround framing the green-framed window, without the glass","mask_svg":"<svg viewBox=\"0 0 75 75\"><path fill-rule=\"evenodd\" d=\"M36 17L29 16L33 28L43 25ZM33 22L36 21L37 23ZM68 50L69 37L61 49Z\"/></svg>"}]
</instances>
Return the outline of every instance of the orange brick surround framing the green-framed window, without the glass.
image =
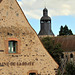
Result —
<instances>
[{"instance_id":1,"label":"orange brick surround framing the green-framed window, without the glass","mask_svg":"<svg viewBox=\"0 0 75 75\"><path fill-rule=\"evenodd\" d=\"M8 52L8 42L9 41L17 41L17 50L16 50L16 53L9 53ZM20 40L18 40L17 38L8 38L7 40L5 40L5 53L6 54L20 54L21 53L20 46L21 46L21 41Z\"/></svg>"}]
</instances>

